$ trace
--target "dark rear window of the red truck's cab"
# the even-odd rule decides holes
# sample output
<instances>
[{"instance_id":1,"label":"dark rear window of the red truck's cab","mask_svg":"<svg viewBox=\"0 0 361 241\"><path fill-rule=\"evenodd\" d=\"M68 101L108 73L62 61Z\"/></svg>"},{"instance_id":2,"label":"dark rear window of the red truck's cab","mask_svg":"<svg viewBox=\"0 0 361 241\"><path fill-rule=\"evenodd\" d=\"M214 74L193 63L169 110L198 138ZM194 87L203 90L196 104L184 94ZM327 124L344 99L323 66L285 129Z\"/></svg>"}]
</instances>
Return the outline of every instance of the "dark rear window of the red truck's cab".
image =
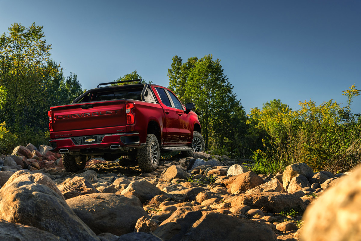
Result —
<instances>
[{"instance_id":1,"label":"dark rear window of the red truck's cab","mask_svg":"<svg viewBox=\"0 0 361 241\"><path fill-rule=\"evenodd\" d=\"M98 92L93 95L92 101L117 99L142 100L140 97L142 90L143 88Z\"/></svg>"}]
</instances>

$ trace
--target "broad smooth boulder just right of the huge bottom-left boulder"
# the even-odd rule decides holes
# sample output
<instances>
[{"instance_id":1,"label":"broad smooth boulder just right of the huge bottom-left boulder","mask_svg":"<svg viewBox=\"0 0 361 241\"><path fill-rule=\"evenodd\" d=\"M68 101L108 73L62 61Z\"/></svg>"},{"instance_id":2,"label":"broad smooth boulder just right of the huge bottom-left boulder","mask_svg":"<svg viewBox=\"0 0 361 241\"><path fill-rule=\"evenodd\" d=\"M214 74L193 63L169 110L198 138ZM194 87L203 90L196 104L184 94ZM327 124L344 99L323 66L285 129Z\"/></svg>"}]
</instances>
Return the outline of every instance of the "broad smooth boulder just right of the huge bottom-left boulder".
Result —
<instances>
[{"instance_id":1,"label":"broad smooth boulder just right of the huge bottom-left boulder","mask_svg":"<svg viewBox=\"0 0 361 241\"><path fill-rule=\"evenodd\" d=\"M135 196L93 193L66 200L70 208L96 234L122 235L134 231L139 218L146 216L142 203Z\"/></svg>"}]
</instances>

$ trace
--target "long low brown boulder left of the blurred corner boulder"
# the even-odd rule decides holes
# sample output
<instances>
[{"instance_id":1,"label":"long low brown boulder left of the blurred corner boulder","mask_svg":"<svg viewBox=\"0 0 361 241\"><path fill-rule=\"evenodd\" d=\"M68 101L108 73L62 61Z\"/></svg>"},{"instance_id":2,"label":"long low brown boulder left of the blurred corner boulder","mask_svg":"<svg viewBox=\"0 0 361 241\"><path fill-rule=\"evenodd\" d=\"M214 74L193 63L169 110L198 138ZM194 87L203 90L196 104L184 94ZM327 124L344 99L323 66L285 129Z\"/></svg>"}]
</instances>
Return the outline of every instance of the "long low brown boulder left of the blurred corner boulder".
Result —
<instances>
[{"instance_id":1,"label":"long low brown boulder left of the blurred corner boulder","mask_svg":"<svg viewBox=\"0 0 361 241\"><path fill-rule=\"evenodd\" d=\"M243 194L228 199L232 207L250 206L264 212L279 213L284 210L303 211L306 205L300 197L291 193L255 193Z\"/></svg>"}]
</instances>

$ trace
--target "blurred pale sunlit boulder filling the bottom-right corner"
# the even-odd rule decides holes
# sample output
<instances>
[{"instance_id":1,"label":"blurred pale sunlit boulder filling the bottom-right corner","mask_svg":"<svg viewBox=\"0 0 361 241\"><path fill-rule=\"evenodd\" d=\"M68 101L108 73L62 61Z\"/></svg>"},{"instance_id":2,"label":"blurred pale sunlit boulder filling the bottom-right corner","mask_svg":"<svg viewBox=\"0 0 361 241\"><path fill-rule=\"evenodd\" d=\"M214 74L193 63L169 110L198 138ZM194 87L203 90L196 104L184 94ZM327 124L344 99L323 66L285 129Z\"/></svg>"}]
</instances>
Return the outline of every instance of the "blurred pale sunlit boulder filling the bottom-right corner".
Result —
<instances>
[{"instance_id":1,"label":"blurred pale sunlit boulder filling the bottom-right corner","mask_svg":"<svg viewBox=\"0 0 361 241\"><path fill-rule=\"evenodd\" d=\"M302 240L360 240L361 169L340 179L307 208Z\"/></svg>"}]
</instances>

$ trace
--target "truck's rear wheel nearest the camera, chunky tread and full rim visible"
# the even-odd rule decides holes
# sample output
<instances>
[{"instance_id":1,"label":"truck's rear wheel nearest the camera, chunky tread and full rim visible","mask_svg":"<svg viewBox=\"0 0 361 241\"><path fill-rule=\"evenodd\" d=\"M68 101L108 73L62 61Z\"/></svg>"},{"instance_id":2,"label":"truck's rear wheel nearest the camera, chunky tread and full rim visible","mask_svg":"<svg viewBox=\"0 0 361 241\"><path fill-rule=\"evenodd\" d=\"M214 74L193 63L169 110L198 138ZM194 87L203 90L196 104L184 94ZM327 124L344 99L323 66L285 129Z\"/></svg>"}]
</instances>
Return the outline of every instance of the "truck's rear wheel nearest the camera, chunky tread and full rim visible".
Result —
<instances>
[{"instance_id":1,"label":"truck's rear wheel nearest the camera, chunky tread and full rim visible","mask_svg":"<svg viewBox=\"0 0 361 241\"><path fill-rule=\"evenodd\" d=\"M158 168L160 148L158 139L153 134L147 134L145 146L138 149L138 165L142 172L153 172Z\"/></svg>"}]
</instances>

